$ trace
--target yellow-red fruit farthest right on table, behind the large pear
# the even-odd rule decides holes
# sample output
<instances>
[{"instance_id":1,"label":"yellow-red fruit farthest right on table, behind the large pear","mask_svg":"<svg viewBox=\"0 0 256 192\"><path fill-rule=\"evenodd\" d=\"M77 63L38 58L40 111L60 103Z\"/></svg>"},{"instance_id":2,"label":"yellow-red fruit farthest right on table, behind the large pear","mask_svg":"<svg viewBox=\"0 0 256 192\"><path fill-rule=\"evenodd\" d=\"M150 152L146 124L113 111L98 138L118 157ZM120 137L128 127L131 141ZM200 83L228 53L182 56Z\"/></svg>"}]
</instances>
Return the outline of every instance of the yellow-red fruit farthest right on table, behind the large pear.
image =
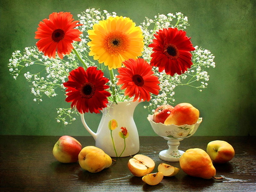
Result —
<instances>
[{"instance_id":1,"label":"yellow-red fruit farthest right on table, behind the large pear","mask_svg":"<svg viewBox=\"0 0 256 192\"><path fill-rule=\"evenodd\" d=\"M226 141L210 141L207 145L207 153L214 163L224 164L232 160L235 155L234 148Z\"/></svg>"}]
</instances>

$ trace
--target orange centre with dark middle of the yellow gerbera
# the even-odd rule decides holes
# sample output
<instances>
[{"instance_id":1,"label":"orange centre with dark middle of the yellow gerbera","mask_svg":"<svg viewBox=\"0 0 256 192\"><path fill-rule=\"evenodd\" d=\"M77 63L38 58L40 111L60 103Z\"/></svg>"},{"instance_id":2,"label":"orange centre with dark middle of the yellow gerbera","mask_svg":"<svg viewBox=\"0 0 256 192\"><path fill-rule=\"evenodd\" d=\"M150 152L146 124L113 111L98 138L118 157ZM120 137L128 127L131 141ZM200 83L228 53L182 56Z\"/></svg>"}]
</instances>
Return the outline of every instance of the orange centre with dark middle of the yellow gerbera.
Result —
<instances>
[{"instance_id":1,"label":"orange centre with dark middle of the yellow gerbera","mask_svg":"<svg viewBox=\"0 0 256 192\"><path fill-rule=\"evenodd\" d=\"M119 31L110 32L104 39L104 48L113 55L127 51L128 37Z\"/></svg>"}]
</instances>

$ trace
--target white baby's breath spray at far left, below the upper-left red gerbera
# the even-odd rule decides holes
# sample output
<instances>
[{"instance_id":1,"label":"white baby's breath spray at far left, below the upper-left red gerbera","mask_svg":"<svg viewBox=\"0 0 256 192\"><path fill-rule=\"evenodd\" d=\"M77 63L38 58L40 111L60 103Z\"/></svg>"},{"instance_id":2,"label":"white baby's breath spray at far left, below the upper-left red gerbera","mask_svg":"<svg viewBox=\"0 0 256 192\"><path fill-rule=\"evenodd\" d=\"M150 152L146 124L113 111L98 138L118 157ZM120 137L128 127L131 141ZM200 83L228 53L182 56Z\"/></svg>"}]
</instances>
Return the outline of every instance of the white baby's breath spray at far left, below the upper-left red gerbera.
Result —
<instances>
[{"instance_id":1,"label":"white baby's breath spray at far left, below the upper-left red gerbera","mask_svg":"<svg viewBox=\"0 0 256 192\"><path fill-rule=\"evenodd\" d=\"M56 89L65 90L63 82L68 78L69 72L76 69L78 64L75 54L71 53L66 60L49 59L39 52L36 47L26 47L23 54L15 51L9 60L9 71L14 79L19 76L24 68L30 67L30 71L24 72L24 77L31 82L31 93L34 101L42 101L43 95L55 97ZM36 72L34 72L36 71ZM39 71L39 72L38 72Z\"/></svg>"}]
</instances>

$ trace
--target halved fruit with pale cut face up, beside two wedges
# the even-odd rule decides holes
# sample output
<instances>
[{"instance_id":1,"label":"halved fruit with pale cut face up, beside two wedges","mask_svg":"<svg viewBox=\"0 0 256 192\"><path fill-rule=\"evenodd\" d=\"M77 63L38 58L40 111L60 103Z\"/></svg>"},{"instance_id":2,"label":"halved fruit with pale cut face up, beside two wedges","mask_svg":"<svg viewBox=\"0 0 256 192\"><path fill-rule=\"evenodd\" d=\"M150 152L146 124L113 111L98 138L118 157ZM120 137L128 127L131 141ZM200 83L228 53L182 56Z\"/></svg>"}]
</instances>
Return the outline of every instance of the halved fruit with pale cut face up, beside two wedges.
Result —
<instances>
[{"instance_id":1,"label":"halved fruit with pale cut face up, beside two wedges","mask_svg":"<svg viewBox=\"0 0 256 192\"><path fill-rule=\"evenodd\" d=\"M143 177L155 168L155 161L145 155L135 155L128 161L128 168L134 176Z\"/></svg>"}]
</instances>

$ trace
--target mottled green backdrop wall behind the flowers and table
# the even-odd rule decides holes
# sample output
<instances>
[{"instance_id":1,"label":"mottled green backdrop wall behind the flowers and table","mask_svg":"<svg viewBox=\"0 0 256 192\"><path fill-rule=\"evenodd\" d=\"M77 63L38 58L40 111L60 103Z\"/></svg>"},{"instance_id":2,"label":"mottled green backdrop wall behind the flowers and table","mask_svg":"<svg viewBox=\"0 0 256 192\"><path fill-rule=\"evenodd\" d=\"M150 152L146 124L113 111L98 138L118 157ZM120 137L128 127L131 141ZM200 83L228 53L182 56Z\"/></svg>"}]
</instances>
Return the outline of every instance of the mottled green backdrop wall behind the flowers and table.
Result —
<instances>
[{"instance_id":1,"label":"mottled green backdrop wall behind the flowers and table","mask_svg":"<svg viewBox=\"0 0 256 192\"><path fill-rule=\"evenodd\" d=\"M75 18L88 8L117 12L139 24L158 13L182 12L191 26L187 35L193 45L209 49L216 68L208 70L208 88L176 89L175 105L189 102L199 108L204 120L197 136L242 136L255 132L255 1L0 1L0 135L88 135L81 121L64 126L57 123L57 107L68 107L64 95L36 103L22 75L14 80L7 63L15 50L34 46L38 24L52 12L69 11ZM139 135L156 135L147 122L147 110L135 110ZM88 114L96 131L101 115ZM77 118L79 119L79 118Z\"/></svg>"}]
</instances>

